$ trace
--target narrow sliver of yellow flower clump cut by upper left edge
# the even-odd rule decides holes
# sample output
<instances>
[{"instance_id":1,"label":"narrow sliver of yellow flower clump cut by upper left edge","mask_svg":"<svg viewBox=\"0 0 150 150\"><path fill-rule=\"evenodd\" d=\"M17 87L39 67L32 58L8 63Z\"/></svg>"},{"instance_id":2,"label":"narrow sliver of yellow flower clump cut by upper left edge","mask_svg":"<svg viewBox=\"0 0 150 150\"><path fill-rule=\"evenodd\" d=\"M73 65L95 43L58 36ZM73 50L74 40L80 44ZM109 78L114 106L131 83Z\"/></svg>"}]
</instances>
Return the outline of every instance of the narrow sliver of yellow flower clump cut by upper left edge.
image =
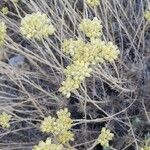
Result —
<instances>
[{"instance_id":1,"label":"narrow sliver of yellow flower clump cut by upper left edge","mask_svg":"<svg viewBox=\"0 0 150 150\"><path fill-rule=\"evenodd\" d=\"M4 45L6 38L6 25L3 21L0 21L0 47Z\"/></svg>"}]
</instances>

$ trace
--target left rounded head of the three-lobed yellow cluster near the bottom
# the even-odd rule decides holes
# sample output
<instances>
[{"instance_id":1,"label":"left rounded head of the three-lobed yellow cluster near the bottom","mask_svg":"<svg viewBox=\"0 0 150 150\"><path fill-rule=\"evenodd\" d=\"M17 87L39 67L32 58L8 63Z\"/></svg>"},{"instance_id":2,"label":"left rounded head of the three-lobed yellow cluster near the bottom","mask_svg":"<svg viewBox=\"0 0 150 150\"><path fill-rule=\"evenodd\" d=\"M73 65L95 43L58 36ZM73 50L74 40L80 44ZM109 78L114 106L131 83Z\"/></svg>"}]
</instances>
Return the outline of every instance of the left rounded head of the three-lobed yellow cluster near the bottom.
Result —
<instances>
[{"instance_id":1,"label":"left rounded head of the three-lobed yellow cluster near the bottom","mask_svg":"<svg viewBox=\"0 0 150 150\"><path fill-rule=\"evenodd\" d=\"M54 132L55 120L51 116L44 118L40 126L41 131L46 133Z\"/></svg>"}]
</instances>

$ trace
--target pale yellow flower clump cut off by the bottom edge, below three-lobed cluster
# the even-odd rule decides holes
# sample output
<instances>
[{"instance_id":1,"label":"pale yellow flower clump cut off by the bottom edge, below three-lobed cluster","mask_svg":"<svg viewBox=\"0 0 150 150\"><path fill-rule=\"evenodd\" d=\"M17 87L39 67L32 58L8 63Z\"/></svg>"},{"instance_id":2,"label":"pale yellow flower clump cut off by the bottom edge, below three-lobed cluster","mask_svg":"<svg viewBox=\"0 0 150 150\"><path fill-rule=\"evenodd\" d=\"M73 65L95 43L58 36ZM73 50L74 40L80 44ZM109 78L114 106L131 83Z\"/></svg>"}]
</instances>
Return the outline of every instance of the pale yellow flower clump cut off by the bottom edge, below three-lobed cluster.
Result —
<instances>
[{"instance_id":1,"label":"pale yellow flower clump cut off by the bottom edge, below three-lobed cluster","mask_svg":"<svg viewBox=\"0 0 150 150\"><path fill-rule=\"evenodd\" d=\"M45 142L40 141L32 150L64 150L64 148L62 144L54 144L50 138L47 138Z\"/></svg>"}]
</instances>

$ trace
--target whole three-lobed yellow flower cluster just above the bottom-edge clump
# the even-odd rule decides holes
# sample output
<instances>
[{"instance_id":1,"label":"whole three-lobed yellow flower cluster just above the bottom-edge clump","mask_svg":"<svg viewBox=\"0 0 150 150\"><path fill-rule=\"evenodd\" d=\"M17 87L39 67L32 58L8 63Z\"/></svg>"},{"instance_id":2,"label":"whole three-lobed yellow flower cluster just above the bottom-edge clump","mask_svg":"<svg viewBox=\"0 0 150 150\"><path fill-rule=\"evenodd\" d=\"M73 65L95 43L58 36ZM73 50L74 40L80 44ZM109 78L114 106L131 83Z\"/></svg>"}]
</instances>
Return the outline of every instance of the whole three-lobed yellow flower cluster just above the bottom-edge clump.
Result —
<instances>
[{"instance_id":1,"label":"whole three-lobed yellow flower cluster just above the bottom-edge clump","mask_svg":"<svg viewBox=\"0 0 150 150\"><path fill-rule=\"evenodd\" d=\"M57 118L48 116L41 122L40 129L42 132L53 133L59 143L65 144L74 140L74 134L70 131L72 127L71 114L67 108L57 112Z\"/></svg>"}]
</instances>

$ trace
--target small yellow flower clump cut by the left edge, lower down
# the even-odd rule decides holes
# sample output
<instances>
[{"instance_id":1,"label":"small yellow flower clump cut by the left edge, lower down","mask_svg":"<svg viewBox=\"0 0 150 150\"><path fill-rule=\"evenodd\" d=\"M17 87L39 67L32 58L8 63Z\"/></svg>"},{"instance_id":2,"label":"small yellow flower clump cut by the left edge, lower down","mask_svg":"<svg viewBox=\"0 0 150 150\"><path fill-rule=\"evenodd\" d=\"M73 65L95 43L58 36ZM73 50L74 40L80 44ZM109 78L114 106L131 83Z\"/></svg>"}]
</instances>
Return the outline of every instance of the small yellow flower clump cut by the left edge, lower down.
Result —
<instances>
[{"instance_id":1,"label":"small yellow flower clump cut by the left edge, lower down","mask_svg":"<svg viewBox=\"0 0 150 150\"><path fill-rule=\"evenodd\" d=\"M11 115L8 115L7 113L2 112L2 114L0 114L0 126L2 126L2 128L9 128L10 119L11 119Z\"/></svg>"}]
</instances>

